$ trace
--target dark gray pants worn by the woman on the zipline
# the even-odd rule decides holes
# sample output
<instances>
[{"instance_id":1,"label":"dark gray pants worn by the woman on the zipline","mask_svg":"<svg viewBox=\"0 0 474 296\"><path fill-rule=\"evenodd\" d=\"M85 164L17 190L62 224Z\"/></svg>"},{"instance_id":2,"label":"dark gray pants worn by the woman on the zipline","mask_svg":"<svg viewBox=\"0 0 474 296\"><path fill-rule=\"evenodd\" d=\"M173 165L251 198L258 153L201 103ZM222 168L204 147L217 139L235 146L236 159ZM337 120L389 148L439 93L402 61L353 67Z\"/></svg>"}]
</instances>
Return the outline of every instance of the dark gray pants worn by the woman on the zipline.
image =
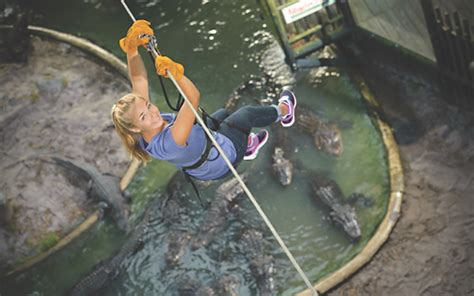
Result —
<instances>
[{"instance_id":1,"label":"dark gray pants worn by the woman on the zipline","mask_svg":"<svg viewBox=\"0 0 474 296\"><path fill-rule=\"evenodd\" d=\"M234 144L237 152L234 167L237 167L245 156L251 129L269 126L277 121L280 116L277 108L277 106L245 106L233 113L221 108L211 114L211 117L221 122L217 131L228 137ZM207 123L211 129L215 128L212 120L208 120Z\"/></svg>"}]
</instances>

